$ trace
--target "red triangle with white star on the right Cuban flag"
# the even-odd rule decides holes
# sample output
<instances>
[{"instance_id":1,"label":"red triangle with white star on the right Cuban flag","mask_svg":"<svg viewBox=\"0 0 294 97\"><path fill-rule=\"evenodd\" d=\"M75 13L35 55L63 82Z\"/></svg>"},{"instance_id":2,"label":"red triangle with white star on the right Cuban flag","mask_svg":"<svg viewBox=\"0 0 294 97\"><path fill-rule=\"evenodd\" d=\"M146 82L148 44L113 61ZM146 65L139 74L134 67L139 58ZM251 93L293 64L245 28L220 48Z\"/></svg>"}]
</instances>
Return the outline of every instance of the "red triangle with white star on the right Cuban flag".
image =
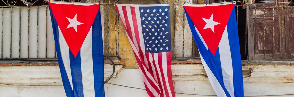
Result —
<instances>
[{"instance_id":1,"label":"red triangle with white star on the right Cuban flag","mask_svg":"<svg viewBox=\"0 0 294 97\"><path fill-rule=\"evenodd\" d=\"M235 4L184 6L208 49L215 55ZM220 10L221 9L221 10Z\"/></svg>"}]
</instances>

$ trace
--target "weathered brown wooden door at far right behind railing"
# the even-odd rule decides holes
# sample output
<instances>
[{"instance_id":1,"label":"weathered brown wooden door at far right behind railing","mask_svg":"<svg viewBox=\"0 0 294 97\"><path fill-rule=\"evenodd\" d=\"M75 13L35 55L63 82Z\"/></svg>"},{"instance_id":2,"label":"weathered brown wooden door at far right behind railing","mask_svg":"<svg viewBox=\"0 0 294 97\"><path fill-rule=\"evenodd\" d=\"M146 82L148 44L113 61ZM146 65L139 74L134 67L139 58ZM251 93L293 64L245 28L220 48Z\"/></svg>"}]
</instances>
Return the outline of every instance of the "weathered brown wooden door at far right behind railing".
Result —
<instances>
[{"instance_id":1,"label":"weathered brown wooden door at far right behind railing","mask_svg":"<svg viewBox=\"0 0 294 97\"><path fill-rule=\"evenodd\" d=\"M287 2L287 0L274 0ZM254 4L253 4L254 5ZM250 60L292 60L294 52L294 9L285 3L258 3L248 18ZM292 10L291 10L292 8ZM292 11L292 12L291 12ZM292 14L291 14L292 13ZM250 30L251 28L251 30ZM251 31L251 32L250 32ZM252 40L250 40L252 39Z\"/></svg>"}]
</instances>

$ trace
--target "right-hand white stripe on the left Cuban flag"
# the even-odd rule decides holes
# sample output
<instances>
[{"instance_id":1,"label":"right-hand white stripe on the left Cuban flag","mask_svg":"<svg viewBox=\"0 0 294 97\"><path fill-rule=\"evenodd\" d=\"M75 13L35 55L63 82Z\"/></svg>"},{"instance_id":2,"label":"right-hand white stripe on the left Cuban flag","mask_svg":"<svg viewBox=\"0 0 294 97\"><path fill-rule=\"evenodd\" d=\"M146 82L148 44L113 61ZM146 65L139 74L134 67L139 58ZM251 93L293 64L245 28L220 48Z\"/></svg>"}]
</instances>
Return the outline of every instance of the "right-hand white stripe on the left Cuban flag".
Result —
<instances>
[{"instance_id":1,"label":"right-hand white stripe on the left Cuban flag","mask_svg":"<svg viewBox=\"0 0 294 97\"><path fill-rule=\"evenodd\" d=\"M84 97L95 97L92 58L92 27L81 47L81 70Z\"/></svg>"}]
</instances>

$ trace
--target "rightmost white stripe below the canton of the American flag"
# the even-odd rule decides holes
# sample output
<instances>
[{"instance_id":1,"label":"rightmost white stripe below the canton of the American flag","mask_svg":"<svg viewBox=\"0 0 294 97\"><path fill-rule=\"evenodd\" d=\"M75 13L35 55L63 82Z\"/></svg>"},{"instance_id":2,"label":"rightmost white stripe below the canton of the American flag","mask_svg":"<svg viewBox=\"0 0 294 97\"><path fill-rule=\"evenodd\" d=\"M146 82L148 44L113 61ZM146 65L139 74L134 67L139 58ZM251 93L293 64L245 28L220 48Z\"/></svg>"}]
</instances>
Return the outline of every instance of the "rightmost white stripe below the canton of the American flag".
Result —
<instances>
[{"instance_id":1,"label":"rightmost white stripe below the canton of the American flag","mask_svg":"<svg viewBox=\"0 0 294 97\"><path fill-rule=\"evenodd\" d=\"M165 78L165 83L166 83L166 87L167 87L167 91L170 97L172 97L171 94L171 88L169 87L169 83L168 83L168 76L167 76L167 60L166 60L166 52L162 52L162 70L163 70L163 75Z\"/></svg>"}]
</instances>

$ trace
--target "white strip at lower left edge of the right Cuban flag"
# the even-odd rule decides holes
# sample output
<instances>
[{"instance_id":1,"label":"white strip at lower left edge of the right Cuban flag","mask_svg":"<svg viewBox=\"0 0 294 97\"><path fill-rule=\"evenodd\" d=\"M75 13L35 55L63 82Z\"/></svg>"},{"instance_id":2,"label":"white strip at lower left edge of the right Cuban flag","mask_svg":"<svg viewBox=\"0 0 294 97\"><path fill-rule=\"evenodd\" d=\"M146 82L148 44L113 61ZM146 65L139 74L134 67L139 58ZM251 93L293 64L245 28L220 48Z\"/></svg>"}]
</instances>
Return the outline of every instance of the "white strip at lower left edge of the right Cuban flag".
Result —
<instances>
[{"instance_id":1,"label":"white strip at lower left edge of the right Cuban flag","mask_svg":"<svg viewBox=\"0 0 294 97\"><path fill-rule=\"evenodd\" d=\"M220 86L220 83L218 82L218 80L216 79L216 77L211 72L210 68L208 67L208 65L206 64L205 60L203 59L201 53L199 53L199 55L200 55L200 58L201 58L201 62L203 64L203 67L204 67L204 69L206 71L207 77L208 77L208 79L209 79L209 81L211 83L211 86L212 86L213 90L216 92L216 95L218 97L227 97L225 95L225 91Z\"/></svg>"}]
</instances>

